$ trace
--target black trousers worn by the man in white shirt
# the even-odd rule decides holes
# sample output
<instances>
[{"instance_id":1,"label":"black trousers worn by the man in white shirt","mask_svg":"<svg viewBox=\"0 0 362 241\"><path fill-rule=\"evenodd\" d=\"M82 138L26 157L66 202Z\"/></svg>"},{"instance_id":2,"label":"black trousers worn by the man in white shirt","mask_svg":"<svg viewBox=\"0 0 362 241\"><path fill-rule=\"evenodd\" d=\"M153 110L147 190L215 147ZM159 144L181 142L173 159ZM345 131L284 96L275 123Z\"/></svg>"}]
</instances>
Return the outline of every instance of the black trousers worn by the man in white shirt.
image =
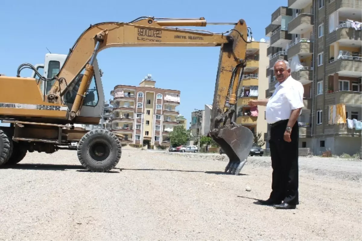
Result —
<instances>
[{"instance_id":1,"label":"black trousers worn by the man in white shirt","mask_svg":"<svg viewBox=\"0 0 362 241\"><path fill-rule=\"evenodd\" d=\"M291 142L284 140L288 120L270 128L270 156L273 176L270 199L299 204L298 195L298 143L299 128L295 122L290 134Z\"/></svg>"}]
</instances>

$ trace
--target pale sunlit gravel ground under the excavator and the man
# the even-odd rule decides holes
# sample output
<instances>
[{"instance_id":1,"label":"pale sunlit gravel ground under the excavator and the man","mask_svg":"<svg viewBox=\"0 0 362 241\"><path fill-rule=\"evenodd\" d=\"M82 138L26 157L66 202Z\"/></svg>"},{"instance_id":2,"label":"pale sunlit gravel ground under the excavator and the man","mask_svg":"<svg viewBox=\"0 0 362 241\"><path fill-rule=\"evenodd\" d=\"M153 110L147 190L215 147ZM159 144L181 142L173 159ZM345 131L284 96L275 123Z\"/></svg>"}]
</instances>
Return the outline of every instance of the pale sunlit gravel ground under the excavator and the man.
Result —
<instances>
[{"instance_id":1,"label":"pale sunlit gravel ground under the excavator and the man","mask_svg":"<svg viewBox=\"0 0 362 241\"><path fill-rule=\"evenodd\" d=\"M225 155L125 148L90 173L75 151L29 153L0 169L0 240L361 240L362 161L300 158L300 205L274 210L255 203L270 157L248 160L232 176Z\"/></svg>"}]
</instances>

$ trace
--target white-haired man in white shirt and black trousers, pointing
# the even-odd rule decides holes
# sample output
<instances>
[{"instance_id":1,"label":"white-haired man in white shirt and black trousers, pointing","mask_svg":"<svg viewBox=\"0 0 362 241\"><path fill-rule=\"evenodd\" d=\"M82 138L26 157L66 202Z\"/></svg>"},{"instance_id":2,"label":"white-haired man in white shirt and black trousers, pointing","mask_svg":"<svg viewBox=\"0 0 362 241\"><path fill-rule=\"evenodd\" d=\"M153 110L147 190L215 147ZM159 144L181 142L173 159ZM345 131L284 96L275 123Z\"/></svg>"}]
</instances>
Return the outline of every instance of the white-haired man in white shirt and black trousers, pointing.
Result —
<instances>
[{"instance_id":1,"label":"white-haired man in white shirt and black trousers, pointing","mask_svg":"<svg viewBox=\"0 0 362 241\"><path fill-rule=\"evenodd\" d=\"M266 106L266 121L270 125L270 156L273 168L269 199L263 205L279 209L295 209L298 195L298 117L303 105L303 85L290 76L285 60L274 64L278 83L269 99L253 100L249 106ZM283 201L283 202L282 202Z\"/></svg>"}]
</instances>

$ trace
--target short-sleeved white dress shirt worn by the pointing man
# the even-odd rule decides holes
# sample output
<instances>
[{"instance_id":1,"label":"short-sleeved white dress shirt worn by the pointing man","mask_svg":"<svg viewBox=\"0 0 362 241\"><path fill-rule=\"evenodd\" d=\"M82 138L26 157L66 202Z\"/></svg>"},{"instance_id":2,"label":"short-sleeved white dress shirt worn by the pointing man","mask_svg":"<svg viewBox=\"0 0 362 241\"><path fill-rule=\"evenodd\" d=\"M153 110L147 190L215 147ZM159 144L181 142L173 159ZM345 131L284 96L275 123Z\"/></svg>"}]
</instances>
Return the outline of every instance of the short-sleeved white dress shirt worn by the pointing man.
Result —
<instances>
[{"instance_id":1,"label":"short-sleeved white dress shirt worn by the pointing man","mask_svg":"<svg viewBox=\"0 0 362 241\"><path fill-rule=\"evenodd\" d=\"M302 83L291 76L281 84L278 82L273 95L266 104L266 122L272 124L279 120L289 119L292 110L304 107L303 95Z\"/></svg>"}]
</instances>

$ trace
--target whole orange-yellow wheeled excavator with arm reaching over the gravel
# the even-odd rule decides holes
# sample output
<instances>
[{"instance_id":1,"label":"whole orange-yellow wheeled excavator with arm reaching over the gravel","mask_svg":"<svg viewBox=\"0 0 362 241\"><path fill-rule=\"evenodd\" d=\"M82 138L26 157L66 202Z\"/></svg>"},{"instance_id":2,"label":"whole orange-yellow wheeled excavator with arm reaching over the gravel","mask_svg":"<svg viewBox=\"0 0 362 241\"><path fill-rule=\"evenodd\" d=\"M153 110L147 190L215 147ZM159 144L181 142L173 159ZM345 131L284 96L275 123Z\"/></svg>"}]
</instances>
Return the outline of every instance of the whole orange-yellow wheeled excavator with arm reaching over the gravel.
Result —
<instances>
[{"instance_id":1,"label":"whole orange-yellow wheeled excavator with arm reaching over the gravel","mask_svg":"<svg viewBox=\"0 0 362 241\"><path fill-rule=\"evenodd\" d=\"M224 33L184 28L206 25L233 28ZM42 75L35 66L24 63L16 77L0 76L0 120L9 123L0 127L0 166L20 162L27 152L54 153L77 142L77 156L85 169L108 172L121 159L120 137L106 129L75 127L98 124L102 115L104 93L97 53L110 47L201 46L220 47L208 136L229 158L224 172L239 175L253 143L251 130L235 122L237 91L251 34L243 19L218 23L203 17L139 17L90 25L76 39L60 69L48 68ZM21 77L26 68L35 76Z\"/></svg>"}]
</instances>

